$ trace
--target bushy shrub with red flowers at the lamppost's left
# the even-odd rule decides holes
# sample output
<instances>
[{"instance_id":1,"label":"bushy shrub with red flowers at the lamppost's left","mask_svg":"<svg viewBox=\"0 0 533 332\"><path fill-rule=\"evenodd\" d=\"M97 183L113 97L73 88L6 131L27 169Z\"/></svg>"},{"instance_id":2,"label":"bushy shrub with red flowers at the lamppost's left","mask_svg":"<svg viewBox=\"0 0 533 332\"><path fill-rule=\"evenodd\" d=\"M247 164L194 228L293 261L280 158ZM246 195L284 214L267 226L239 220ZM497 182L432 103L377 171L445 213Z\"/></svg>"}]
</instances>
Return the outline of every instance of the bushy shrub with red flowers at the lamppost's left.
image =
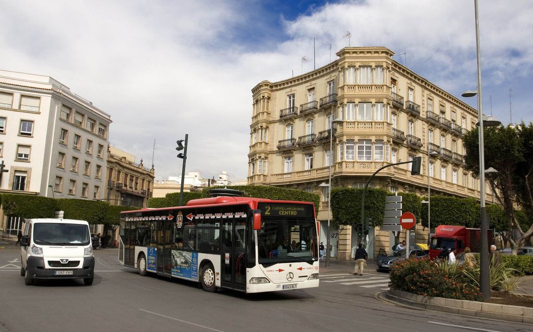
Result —
<instances>
[{"instance_id":1,"label":"bushy shrub with red flowers at the lamppost's left","mask_svg":"<svg viewBox=\"0 0 533 332\"><path fill-rule=\"evenodd\" d=\"M479 288L472 285L458 266L443 271L429 258L409 258L391 266L390 287L424 296L481 301Z\"/></svg>"}]
</instances>

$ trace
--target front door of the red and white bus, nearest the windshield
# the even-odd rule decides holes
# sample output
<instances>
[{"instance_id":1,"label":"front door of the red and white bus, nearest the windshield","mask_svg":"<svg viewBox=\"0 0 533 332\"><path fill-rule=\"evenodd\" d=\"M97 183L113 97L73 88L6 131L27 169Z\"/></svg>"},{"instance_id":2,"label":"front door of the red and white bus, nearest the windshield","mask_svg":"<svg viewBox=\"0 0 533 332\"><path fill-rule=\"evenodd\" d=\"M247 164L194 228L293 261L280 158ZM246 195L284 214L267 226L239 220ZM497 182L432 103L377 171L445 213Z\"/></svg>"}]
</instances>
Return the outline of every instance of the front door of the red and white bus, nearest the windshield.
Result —
<instances>
[{"instance_id":1,"label":"front door of the red and white bus, nearest the windshield","mask_svg":"<svg viewBox=\"0 0 533 332\"><path fill-rule=\"evenodd\" d=\"M222 222L221 285L246 290L246 218Z\"/></svg>"}]
</instances>

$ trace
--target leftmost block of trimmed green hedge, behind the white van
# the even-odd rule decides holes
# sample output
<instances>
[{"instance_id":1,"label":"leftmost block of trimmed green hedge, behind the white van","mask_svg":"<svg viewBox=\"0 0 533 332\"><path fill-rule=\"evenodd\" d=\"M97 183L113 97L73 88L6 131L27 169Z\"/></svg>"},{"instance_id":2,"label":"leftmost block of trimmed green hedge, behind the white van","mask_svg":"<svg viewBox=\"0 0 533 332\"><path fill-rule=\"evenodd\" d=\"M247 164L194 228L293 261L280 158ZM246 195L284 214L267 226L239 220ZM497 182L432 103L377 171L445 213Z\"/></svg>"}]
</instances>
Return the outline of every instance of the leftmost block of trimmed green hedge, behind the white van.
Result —
<instances>
[{"instance_id":1,"label":"leftmost block of trimmed green hedge, behind the white van","mask_svg":"<svg viewBox=\"0 0 533 332\"><path fill-rule=\"evenodd\" d=\"M44 196L4 193L2 206L7 216L23 218L53 218L57 200Z\"/></svg>"}]
</instances>

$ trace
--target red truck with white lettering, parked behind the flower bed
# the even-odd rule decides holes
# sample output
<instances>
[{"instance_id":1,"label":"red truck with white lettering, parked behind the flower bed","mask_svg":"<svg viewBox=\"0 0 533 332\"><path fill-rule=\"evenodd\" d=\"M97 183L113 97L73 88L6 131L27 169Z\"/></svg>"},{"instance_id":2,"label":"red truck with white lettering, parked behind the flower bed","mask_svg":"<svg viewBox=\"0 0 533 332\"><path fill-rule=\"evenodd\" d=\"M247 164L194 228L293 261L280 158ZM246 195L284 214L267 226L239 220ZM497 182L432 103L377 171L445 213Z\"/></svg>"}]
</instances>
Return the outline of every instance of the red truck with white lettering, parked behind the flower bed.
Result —
<instances>
[{"instance_id":1,"label":"red truck with white lettering, parked behind the flower bed","mask_svg":"<svg viewBox=\"0 0 533 332\"><path fill-rule=\"evenodd\" d=\"M494 230L487 230L489 246L494 244ZM465 226L439 225L431 237L430 257L436 258L445 249L457 249L457 253L464 252L470 247L473 253L479 253L481 248L481 230L466 228Z\"/></svg>"}]
</instances>

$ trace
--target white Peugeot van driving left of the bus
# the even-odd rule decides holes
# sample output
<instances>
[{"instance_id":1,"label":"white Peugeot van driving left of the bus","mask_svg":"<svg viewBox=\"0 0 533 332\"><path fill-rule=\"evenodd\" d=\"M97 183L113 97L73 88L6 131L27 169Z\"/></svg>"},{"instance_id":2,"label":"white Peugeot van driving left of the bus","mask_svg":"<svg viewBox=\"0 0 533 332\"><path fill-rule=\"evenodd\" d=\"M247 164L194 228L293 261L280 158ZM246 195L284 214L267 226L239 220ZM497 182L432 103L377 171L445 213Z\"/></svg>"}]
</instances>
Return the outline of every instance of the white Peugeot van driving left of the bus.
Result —
<instances>
[{"instance_id":1,"label":"white Peugeot van driving left of the bus","mask_svg":"<svg viewBox=\"0 0 533 332\"><path fill-rule=\"evenodd\" d=\"M20 275L26 285L35 279L83 279L92 285L94 256L86 221L26 219L23 227Z\"/></svg>"}]
</instances>

